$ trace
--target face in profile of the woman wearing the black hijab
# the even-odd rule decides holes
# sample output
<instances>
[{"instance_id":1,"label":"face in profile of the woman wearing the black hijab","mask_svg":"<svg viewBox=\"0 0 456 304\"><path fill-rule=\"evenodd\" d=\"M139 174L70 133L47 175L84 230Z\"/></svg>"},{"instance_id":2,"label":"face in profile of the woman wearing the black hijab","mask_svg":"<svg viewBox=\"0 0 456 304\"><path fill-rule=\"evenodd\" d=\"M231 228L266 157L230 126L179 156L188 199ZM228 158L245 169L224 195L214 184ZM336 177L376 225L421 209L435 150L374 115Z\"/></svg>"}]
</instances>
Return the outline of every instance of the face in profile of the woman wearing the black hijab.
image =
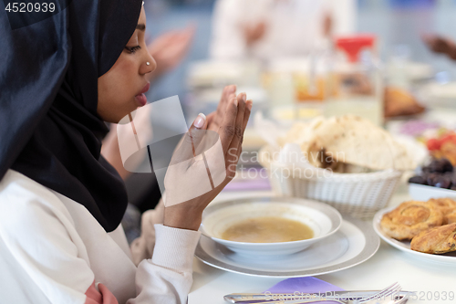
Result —
<instances>
[{"instance_id":1,"label":"face in profile of the woman wearing the black hijab","mask_svg":"<svg viewBox=\"0 0 456 304\"><path fill-rule=\"evenodd\" d=\"M114 66L98 78L97 112L103 121L117 123L147 101L143 93L149 89L148 74L157 64L146 46L145 30L146 15L142 7L138 26L127 46Z\"/></svg>"}]
</instances>

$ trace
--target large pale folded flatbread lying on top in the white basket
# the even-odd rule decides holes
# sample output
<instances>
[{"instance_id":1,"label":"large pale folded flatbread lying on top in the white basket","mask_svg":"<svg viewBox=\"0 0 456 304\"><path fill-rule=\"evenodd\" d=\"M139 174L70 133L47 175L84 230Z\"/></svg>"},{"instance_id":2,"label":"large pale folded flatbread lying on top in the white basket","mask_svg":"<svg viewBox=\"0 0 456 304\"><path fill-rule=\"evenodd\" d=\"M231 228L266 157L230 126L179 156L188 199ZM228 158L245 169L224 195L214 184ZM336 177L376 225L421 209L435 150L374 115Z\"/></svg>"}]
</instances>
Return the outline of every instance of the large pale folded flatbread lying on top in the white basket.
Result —
<instances>
[{"instance_id":1,"label":"large pale folded flatbread lying on top in the white basket","mask_svg":"<svg viewBox=\"0 0 456 304\"><path fill-rule=\"evenodd\" d=\"M298 133L296 128L286 139L295 136L294 142L300 144L309 162L316 167L326 167L327 159L332 159L372 170L415 168L407 149L388 131L357 116L318 119L307 128L300 128L304 135L295 136Z\"/></svg>"}]
</instances>

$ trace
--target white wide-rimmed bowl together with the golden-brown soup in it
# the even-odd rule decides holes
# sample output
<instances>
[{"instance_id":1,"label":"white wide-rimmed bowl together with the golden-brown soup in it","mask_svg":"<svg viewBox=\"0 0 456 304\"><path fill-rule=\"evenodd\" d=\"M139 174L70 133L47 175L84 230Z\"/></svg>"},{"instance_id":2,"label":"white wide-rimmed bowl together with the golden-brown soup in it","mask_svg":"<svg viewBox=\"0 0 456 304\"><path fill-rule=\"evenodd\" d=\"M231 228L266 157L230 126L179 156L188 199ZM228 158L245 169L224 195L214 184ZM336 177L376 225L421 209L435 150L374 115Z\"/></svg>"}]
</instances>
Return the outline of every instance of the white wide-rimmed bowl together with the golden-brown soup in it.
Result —
<instances>
[{"instance_id":1,"label":"white wide-rimmed bowl together with the golden-brown soup in it","mask_svg":"<svg viewBox=\"0 0 456 304\"><path fill-rule=\"evenodd\" d=\"M256 197L210 204L200 231L244 255L280 256L306 249L337 232L342 216L325 203Z\"/></svg>"}]
</instances>

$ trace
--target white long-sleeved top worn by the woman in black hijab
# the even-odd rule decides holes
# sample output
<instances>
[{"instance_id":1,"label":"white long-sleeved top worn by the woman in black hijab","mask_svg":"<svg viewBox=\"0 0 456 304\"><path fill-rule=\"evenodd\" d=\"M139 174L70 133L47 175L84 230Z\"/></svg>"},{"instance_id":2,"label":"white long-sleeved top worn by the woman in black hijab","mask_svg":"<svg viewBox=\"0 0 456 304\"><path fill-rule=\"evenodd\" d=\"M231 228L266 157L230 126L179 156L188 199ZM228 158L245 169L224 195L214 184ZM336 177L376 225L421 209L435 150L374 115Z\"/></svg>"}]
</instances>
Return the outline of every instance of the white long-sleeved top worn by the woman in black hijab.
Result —
<instances>
[{"instance_id":1,"label":"white long-sleeved top worn by the woman in black hijab","mask_svg":"<svg viewBox=\"0 0 456 304\"><path fill-rule=\"evenodd\" d=\"M146 217L150 231L133 257L121 225L106 233L82 204L9 170L0 182L0 302L185 303L200 233L153 228L153 212Z\"/></svg>"}]
</instances>

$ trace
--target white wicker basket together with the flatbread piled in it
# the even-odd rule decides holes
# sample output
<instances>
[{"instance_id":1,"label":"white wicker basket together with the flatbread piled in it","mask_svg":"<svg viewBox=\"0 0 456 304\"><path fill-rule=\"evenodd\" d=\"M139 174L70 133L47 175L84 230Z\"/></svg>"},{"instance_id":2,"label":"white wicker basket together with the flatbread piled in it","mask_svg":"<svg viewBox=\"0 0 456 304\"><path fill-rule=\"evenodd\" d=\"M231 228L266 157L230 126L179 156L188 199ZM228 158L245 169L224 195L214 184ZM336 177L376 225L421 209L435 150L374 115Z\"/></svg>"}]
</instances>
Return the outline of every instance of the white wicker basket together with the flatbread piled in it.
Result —
<instances>
[{"instance_id":1,"label":"white wicker basket together with the flatbread piled in it","mask_svg":"<svg viewBox=\"0 0 456 304\"><path fill-rule=\"evenodd\" d=\"M354 115L296 122L275 139L258 157L275 194L326 202L357 217L385 207L403 171L417 163L409 145Z\"/></svg>"}]
</instances>

